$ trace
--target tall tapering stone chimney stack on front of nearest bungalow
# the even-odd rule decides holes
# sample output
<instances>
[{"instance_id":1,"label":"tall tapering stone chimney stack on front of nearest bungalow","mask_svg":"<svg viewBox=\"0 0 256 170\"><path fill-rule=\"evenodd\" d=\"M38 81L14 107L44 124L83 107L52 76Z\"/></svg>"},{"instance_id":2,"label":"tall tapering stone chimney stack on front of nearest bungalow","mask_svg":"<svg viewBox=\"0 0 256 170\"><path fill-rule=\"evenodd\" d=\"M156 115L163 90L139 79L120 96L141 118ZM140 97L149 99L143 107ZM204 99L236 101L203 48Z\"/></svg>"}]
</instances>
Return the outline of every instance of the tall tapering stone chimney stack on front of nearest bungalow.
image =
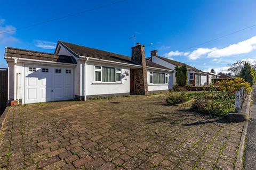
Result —
<instances>
[{"instance_id":1,"label":"tall tapering stone chimney stack on front of nearest bungalow","mask_svg":"<svg viewBox=\"0 0 256 170\"><path fill-rule=\"evenodd\" d=\"M131 61L136 64L142 65L142 68L134 69L134 93L136 95L148 95L145 46L137 43L137 46L132 47Z\"/></svg>"}]
</instances>

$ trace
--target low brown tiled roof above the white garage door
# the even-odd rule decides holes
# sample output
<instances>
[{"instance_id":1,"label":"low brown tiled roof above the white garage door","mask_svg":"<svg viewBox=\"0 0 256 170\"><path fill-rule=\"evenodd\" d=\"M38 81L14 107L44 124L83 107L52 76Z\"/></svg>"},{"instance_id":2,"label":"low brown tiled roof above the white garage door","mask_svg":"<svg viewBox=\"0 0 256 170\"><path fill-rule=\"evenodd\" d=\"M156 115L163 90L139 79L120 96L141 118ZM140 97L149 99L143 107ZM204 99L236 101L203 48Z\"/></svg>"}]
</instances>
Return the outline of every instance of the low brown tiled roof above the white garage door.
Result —
<instances>
[{"instance_id":1,"label":"low brown tiled roof above the white garage door","mask_svg":"<svg viewBox=\"0 0 256 170\"><path fill-rule=\"evenodd\" d=\"M5 48L6 57L27 58L33 60L51 61L59 63L76 64L76 60L72 56L58 55L52 53L37 52L33 50L20 49L20 48Z\"/></svg>"}]
</instances>

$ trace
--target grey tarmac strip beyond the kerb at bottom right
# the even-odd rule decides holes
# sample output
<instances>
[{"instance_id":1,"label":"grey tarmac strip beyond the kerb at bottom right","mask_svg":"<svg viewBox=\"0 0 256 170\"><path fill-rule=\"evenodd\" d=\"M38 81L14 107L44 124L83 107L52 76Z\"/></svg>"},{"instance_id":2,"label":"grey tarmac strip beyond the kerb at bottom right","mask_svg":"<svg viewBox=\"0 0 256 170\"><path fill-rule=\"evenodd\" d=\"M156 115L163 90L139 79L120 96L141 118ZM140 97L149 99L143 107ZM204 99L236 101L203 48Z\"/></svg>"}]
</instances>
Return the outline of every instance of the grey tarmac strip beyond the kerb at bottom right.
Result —
<instances>
[{"instance_id":1,"label":"grey tarmac strip beyond the kerb at bottom right","mask_svg":"<svg viewBox=\"0 0 256 170\"><path fill-rule=\"evenodd\" d=\"M244 169L256 168L256 86L252 90L252 105L250 113L250 121L247 129L246 150L244 155Z\"/></svg>"}]
</instances>

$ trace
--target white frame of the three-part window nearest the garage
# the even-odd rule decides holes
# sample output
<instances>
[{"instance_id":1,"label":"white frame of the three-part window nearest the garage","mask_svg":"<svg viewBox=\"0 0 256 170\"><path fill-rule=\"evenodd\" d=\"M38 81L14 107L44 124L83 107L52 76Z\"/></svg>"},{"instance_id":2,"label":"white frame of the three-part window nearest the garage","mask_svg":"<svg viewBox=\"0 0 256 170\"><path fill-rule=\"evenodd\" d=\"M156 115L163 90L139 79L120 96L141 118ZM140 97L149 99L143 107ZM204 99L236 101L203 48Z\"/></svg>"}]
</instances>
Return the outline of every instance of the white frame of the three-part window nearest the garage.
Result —
<instances>
[{"instance_id":1,"label":"white frame of the three-part window nearest the garage","mask_svg":"<svg viewBox=\"0 0 256 170\"><path fill-rule=\"evenodd\" d=\"M100 67L100 69L96 68ZM115 82L103 82L102 81L102 67L113 67L115 68ZM120 69L120 70L118 70ZM101 65L94 65L94 75L93 75L93 82L94 83L102 83L102 84L116 84L116 83L122 83L122 68L121 67L115 67L115 66L101 66ZM95 80L95 72L100 72L100 81ZM116 81L116 74L120 73L121 74L121 81Z\"/></svg>"}]
</instances>

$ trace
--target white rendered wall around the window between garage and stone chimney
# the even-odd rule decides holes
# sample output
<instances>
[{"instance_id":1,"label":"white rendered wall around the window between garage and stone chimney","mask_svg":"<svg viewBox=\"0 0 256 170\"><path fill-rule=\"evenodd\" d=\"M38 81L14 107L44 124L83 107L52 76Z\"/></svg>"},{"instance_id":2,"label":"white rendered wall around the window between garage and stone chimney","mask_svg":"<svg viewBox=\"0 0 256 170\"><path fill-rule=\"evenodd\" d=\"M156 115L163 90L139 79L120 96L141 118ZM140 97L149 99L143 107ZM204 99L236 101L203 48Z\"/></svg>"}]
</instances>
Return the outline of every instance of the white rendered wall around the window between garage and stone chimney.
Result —
<instances>
[{"instance_id":1,"label":"white rendered wall around the window between garage and stone chimney","mask_svg":"<svg viewBox=\"0 0 256 170\"><path fill-rule=\"evenodd\" d=\"M94 82L94 65L121 68L121 83ZM124 74L128 72L129 75ZM86 63L86 96L123 94L130 92L130 68L114 64L87 62Z\"/></svg>"}]
</instances>

